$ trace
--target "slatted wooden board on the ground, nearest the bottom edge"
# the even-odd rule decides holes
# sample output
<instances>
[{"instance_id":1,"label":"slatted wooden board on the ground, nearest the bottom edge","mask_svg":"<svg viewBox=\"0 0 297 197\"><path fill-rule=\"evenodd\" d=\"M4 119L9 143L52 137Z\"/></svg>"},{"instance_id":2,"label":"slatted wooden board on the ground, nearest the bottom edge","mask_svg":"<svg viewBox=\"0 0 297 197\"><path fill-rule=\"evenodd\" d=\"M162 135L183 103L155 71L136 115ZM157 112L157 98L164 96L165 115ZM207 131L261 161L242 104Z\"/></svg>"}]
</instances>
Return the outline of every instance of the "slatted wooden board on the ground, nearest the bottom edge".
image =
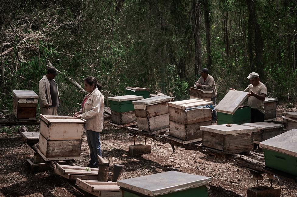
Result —
<instances>
[{"instance_id":1,"label":"slatted wooden board on the ground, nearest the bottom edge","mask_svg":"<svg viewBox=\"0 0 297 197\"><path fill-rule=\"evenodd\" d=\"M117 182L99 182L76 179L76 185L82 190L99 197L122 197Z\"/></svg>"}]
</instances>

